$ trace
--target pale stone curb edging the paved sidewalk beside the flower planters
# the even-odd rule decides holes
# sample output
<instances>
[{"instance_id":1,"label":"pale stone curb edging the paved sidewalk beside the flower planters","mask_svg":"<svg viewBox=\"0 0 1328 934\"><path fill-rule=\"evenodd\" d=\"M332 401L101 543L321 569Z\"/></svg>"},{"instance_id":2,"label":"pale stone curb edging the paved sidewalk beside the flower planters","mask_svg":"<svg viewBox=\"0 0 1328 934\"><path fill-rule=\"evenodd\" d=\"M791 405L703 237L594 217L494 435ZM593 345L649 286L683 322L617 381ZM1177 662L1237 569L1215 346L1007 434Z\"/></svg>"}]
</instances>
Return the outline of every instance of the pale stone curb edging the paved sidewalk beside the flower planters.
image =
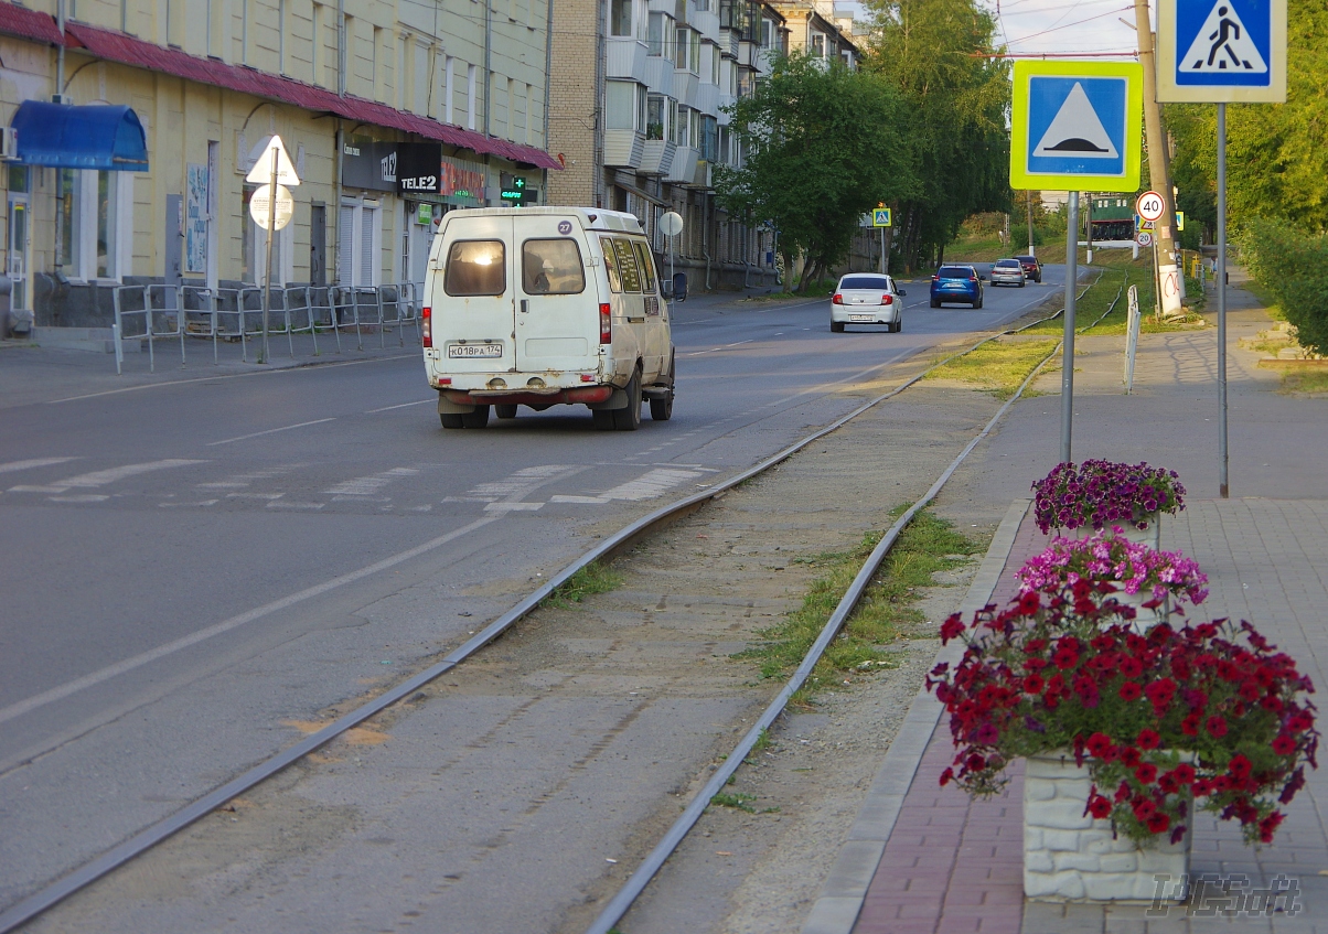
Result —
<instances>
[{"instance_id":1,"label":"pale stone curb edging the paved sidewalk beside the flower planters","mask_svg":"<svg viewBox=\"0 0 1328 934\"><path fill-rule=\"evenodd\" d=\"M971 615L991 601L1000 574L1015 546L1015 535L1028 513L1032 500L1015 500L1001 519L992 543L987 549L977 575L968 587L968 594L959 611ZM955 642L936 652L934 664L950 662L954 664L963 654L963 644ZM940 721L942 707L927 688L918 691L899 733L890 744L880 769L867 791L858 818L850 828L839 848L839 856L830 868L821 897L807 914L802 934L851 934L867 897L867 889L876 874L876 866L886 852L890 833L903 808L904 796L912 787L918 765L931 743L936 724Z\"/></svg>"}]
</instances>

